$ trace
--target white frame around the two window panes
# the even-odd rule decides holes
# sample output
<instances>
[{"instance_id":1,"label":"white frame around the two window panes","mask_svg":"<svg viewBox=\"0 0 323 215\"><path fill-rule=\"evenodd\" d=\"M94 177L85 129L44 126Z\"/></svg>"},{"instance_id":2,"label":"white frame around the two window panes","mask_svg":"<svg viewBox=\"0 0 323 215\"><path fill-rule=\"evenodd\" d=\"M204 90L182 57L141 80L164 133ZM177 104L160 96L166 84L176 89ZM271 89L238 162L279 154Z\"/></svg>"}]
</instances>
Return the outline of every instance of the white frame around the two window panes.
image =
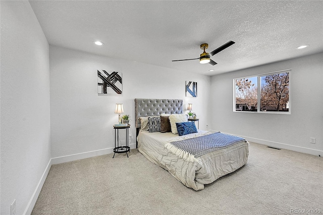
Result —
<instances>
[{"instance_id":1,"label":"white frame around the two window panes","mask_svg":"<svg viewBox=\"0 0 323 215\"><path fill-rule=\"evenodd\" d=\"M270 72L270 73L263 73L259 75L250 75L250 76L244 76L239 78L233 79L233 112L236 113L258 113L258 114L287 114L290 115L292 113L292 105L291 105L291 69L288 70L281 70L276 72ZM288 112L283 111L260 111L260 98L261 98L261 77L267 76L267 75L275 75L275 74L281 74L281 73L289 73L289 97L288 97ZM248 79L250 77L257 77L257 111L236 111L236 80L239 79Z\"/></svg>"}]
</instances>

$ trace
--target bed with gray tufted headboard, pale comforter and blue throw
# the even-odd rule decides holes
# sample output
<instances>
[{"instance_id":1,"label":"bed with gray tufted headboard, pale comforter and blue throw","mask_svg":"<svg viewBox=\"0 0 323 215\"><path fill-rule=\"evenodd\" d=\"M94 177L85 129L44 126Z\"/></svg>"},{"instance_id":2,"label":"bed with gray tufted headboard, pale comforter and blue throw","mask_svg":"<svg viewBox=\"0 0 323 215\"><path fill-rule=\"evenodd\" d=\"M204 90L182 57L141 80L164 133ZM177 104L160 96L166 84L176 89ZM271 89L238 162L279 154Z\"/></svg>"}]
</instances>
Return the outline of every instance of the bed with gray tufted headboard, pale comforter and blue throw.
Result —
<instances>
[{"instance_id":1,"label":"bed with gray tufted headboard, pale comforter and blue throw","mask_svg":"<svg viewBox=\"0 0 323 215\"><path fill-rule=\"evenodd\" d=\"M165 133L149 132L154 129L153 126L149 127L149 131L142 129L141 124L145 123L143 119L148 118L152 120L149 121L151 123L158 119L158 116L164 119L164 116L170 117L170 115L183 116L183 100L136 98L137 148L150 162L167 170L185 186L202 190L205 184L210 184L247 163L248 142L241 137L196 128L194 133L186 134L184 131L183 135L179 125L188 125L189 122L176 123L179 134L173 133L173 130ZM219 138L229 138L235 142L221 145L222 143L217 143ZM196 151L195 146L202 145L201 141L196 142L199 140L206 142L207 145L211 145L211 142L219 145ZM195 145L193 149L190 148L192 145Z\"/></svg>"}]
</instances>

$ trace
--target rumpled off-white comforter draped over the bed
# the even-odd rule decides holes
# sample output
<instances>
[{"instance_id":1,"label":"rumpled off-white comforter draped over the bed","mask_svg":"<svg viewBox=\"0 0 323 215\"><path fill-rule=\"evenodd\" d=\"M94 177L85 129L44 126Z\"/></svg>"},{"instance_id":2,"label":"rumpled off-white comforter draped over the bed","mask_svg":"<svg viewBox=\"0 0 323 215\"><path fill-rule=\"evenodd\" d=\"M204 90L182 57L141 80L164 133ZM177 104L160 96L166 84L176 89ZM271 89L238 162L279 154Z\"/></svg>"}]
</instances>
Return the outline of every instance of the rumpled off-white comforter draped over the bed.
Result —
<instances>
[{"instance_id":1,"label":"rumpled off-white comforter draped over the bed","mask_svg":"<svg viewBox=\"0 0 323 215\"><path fill-rule=\"evenodd\" d=\"M210 184L247 163L248 142L240 142L227 148L212 151L197 157L194 162L178 157L164 146L172 141L209 133L198 130L198 133L178 136L178 134L173 133L140 131L137 137L138 150L150 162L166 169L185 186L194 190L202 190L204 189L204 184Z\"/></svg>"}]
</instances>

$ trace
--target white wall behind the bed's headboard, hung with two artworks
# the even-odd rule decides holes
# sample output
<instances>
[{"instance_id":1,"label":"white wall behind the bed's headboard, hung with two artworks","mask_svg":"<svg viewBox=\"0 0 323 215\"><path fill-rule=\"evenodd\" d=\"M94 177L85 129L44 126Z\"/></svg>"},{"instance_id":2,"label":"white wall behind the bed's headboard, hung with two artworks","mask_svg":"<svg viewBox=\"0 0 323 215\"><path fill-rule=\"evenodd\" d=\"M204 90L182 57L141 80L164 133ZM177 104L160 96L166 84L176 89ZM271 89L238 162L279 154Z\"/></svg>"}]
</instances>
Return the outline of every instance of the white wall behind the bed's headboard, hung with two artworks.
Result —
<instances>
[{"instance_id":1,"label":"white wall behind the bed's headboard, hung with two artworks","mask_svg":"<svg viewBox=\"0 0 323 215\"><path fill-rule=\"evenodd\" d=\"M114 114L115 103L123 103L124 114L131 117L131 146L135 147L134 98L184 99L184 110L187 103L193 103L193 111L200 118L200 129L206 129L209 76L112 59L59 46L49 47L53 158L95 150L99 152L89 156L111 153L114 148L113 125L118 122L118 115ZM122 72L123 95L98 95L97 70ZM185 81L198 83L197 98L185 97ZM71 159L59 159L54 163Z\"/></svg>"}]
</instances>

